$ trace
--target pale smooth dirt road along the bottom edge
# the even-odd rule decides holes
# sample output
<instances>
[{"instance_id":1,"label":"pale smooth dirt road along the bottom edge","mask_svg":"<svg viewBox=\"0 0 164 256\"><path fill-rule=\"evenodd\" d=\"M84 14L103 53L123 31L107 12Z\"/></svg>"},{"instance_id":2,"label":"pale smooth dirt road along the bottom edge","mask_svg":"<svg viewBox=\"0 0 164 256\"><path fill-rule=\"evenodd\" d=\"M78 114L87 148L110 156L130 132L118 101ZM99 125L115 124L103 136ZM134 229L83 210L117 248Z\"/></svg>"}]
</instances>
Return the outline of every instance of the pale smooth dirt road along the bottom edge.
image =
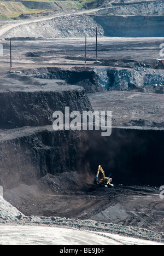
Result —
<instances>
[{"instance_id":1,"label":"pale smooth dirt road along the bottom edge","mask_svg":"<svg viewBox=\"0 0 164 256\"><path fill-rule=\"evenodd\" d=\"M0 226L1 245L163 245L163 243L68 228L45 226ZM60 248L60 247L59 247ZM57 248L58 249L58 248ZM79 250L77 248L77 250Z\"/></svg>"}]
</instances>

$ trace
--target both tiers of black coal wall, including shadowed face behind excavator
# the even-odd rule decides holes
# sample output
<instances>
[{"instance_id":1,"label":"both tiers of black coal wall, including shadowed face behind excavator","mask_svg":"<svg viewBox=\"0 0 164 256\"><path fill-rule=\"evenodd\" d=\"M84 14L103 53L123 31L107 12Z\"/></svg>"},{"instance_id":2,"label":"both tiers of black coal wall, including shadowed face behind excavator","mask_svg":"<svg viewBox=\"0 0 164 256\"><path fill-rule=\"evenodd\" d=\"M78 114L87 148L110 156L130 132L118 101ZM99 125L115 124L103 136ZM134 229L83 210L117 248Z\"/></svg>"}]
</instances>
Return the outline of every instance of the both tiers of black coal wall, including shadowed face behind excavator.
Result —
<instances>
[{"instance_id":1,"label":"both tiers of black coal wall, including shadowed face behind excavator","mask_svg":"<svg viewBox=\"0 0 164 256\"><path fill-rule=\"evenodd\" d=\"M4 189L33 184L47 173L71 171L92 183L87 177L94 178L99 164L114 183L162 185L162 130L118 127L110 137L101 137L98 131L54 132L55 110L92 110L84 89L55 80L29 85L21 79L15 85L1 80L0 185Z\"/></svg>"}]
</instances>

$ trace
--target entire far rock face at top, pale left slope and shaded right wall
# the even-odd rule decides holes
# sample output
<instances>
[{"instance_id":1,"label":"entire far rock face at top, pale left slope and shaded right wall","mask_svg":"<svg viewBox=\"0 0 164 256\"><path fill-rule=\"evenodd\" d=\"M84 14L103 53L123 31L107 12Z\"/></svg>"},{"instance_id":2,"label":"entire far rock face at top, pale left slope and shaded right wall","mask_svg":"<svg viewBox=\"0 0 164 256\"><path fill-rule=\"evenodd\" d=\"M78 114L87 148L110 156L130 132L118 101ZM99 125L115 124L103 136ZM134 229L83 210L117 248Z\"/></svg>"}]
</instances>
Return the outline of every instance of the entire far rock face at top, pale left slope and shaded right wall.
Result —
<instances>
[{"instance_id":1,"label":"entire far rock face at top, pale left slope and shaded right wall","mask_svg":"<svg viewBox=\"0 0 164 256\"><path fill-rule=\"evenodd\" d=\"M143 11L140 11L142 8ZM95 27L99 37L162 37L163 24L161 3L160 8L138 6L138 10L121 5L119 9L104 8L90 14L63 15L47 21L23 24L10 30L3 38L81 38L85 35L95 37Z\"/></svg>"}]
</instances>

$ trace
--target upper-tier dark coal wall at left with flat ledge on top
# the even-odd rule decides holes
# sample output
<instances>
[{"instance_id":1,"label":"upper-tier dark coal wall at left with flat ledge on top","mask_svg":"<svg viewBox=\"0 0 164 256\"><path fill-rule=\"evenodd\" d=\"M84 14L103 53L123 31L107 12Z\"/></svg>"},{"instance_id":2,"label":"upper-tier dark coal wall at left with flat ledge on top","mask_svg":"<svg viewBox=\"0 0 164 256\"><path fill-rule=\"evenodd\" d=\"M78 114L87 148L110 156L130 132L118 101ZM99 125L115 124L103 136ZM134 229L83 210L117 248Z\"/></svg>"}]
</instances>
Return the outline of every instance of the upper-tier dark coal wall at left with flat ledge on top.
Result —
<instances>
[{"instance_id":1,"label":"upper-tier dark coal wall at left with flat ledge on top","mask_svg":"<svg viewBox=\"0 0 164 256\"><path fill-rule=\"evenodd\" d=\"M41 85L42 86L42 85ZM51 125L55 111L92 110L83 88L54 85L48 89L0 92L0 129Z\"/></svg>"}]
</instances>

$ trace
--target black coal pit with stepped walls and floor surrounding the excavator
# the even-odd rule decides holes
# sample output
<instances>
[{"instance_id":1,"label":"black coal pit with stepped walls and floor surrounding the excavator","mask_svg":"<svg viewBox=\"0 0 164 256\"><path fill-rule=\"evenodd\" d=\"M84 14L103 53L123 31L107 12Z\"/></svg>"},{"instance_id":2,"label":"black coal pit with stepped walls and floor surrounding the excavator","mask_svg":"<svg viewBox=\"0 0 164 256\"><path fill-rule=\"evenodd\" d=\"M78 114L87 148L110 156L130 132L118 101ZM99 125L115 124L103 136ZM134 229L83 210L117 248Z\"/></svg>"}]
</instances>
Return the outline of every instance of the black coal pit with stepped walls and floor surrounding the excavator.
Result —
<instances>
[{"instance_id":1,"label":"black coal pit with stepped walls and floor surrounding the excavator","mask_svg":"<svg viewBox=\"0 0 164 256\"><path fill-rule=\"evenodd\" d=\"M4 199L26 216L92 219L163 232L164 131L118 126L109 137L101 131L54 131L56 110L93 110L86 92L99 90L97 77L83 72L68 81L64 73L61 80L59 73L45 79L39 72L1 79ZM93 184L99 164L114 188Z\"/></svg>"}]
</instances>

